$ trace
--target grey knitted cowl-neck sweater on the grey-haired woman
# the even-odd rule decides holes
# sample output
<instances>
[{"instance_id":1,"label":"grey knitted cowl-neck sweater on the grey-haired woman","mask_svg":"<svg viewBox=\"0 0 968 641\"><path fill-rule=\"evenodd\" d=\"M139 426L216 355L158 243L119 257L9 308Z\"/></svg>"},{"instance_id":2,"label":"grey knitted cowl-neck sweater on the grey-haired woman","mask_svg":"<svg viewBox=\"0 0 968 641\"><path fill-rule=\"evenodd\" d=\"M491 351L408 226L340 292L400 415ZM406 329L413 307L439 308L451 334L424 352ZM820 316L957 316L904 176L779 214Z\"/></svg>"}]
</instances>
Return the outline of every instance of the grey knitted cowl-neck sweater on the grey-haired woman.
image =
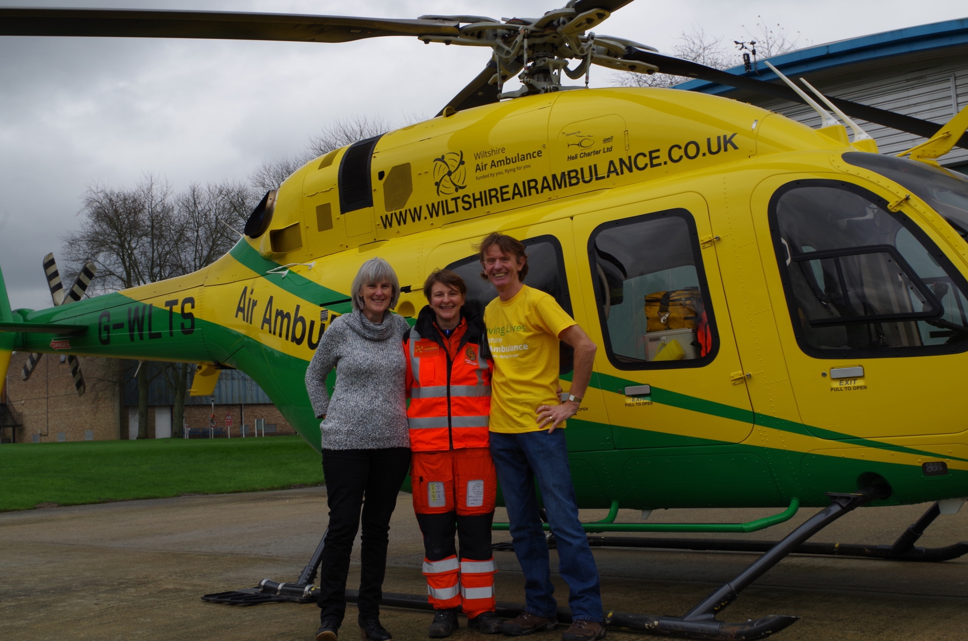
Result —
<instances>
[{"instance_id":1,"label":"grey knitted cowl-neck sweater on the grey-haired woman","mask_svg":"<svg viewBox=\"0 0 968 641\"><path fill-rule=\"evenodd\" d=\"M387 312L383 322L361 312L345 314L326 329L306 370L306 390L325 449L409 447L405 383L407 361L403 317ZM326 377L336 368L333 398Z\"/></svg>"}]
</instances>

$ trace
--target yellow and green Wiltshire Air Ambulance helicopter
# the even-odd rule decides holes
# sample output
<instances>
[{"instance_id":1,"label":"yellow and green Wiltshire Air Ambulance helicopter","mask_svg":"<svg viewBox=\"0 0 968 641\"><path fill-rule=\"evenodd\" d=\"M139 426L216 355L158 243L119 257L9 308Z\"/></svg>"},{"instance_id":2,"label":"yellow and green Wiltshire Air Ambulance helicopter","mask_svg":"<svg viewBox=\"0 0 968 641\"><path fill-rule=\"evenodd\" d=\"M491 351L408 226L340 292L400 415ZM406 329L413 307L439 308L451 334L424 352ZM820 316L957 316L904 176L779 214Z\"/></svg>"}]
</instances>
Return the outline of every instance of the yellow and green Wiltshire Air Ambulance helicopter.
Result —
<instances>
[{"instance_id":1,"label":"yellow and green Wiltshire Air Ambulance helicopter","mask_svg":"<svg viewBox=\"0 0 968 641\"><path fill-rule=\"evenodd\" d=\"M424 304L420 285L437 267L462 274L469 295L487 302L496 292L477 278L471 245L500 229L528 246L529 285L553 294L602 348L585 407L566 432L579 505L611 508L586 525L590 533L755 532L801 506L823 508L687 614L612 613L612 626L761 638L797 617L716 616L791 552L923 561L965 554L968 543L915 546L939 513L968 496L963 412L946 402L926 404L925 413L924 403L904 399L912 390L956 397L957 373L968 365L968 181L936 162L968 145L968 108L939 129L828 99L778 71L785 85L590 31L624 4L577 0L505 20L0 9L0 35L410 36L489 47L491 55L437 117L298 169L262 198L235 247L203 270L76 294L41 311L12 311L2 290L0 369L12 350L195 362L192 393L207 395L222 369L237 368L318 449L303 378L328 323L350 309L359 265L374 256L394 265L405 284L395 311L404 317ZM593 64L715 79L810 104L824 123L811 130L676 89L562 84L562 76L587 77ZM503 94L517 74L522 88ZM906 152L910 160L882 156L851 115L929 139ZM568 356L562 351L565 390ZM935 503L892 546L804 544L860 505L922 502ZM620 506L783 509L739 524L614 523ZM706 541L703 549L730 545ZM295 583L264 580L207 597L312 600L318 552ZM426 603L398 600L388 604Z\"/></svg>"}]
</instances>

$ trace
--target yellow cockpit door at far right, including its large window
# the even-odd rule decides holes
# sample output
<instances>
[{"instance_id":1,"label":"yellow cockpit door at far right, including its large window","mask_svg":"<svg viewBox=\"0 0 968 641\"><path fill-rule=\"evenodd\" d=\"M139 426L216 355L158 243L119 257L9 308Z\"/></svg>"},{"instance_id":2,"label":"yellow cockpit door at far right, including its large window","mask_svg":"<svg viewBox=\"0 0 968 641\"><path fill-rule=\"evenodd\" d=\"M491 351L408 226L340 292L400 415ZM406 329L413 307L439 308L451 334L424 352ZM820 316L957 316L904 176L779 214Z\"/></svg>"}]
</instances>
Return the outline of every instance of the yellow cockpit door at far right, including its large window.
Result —
<instances>
[{"instance_id":1,"label":"yellow cockpit door at far right, including its large window","mask_svg":"<svg viewBox=\"0 0 968 641\"><path fill-rule=\"evenodd\" d=\"M802 422L826 439L964 430L968 283L888 201L840 180L764 183L754 207Z\"/></svg>"}]
</instances>

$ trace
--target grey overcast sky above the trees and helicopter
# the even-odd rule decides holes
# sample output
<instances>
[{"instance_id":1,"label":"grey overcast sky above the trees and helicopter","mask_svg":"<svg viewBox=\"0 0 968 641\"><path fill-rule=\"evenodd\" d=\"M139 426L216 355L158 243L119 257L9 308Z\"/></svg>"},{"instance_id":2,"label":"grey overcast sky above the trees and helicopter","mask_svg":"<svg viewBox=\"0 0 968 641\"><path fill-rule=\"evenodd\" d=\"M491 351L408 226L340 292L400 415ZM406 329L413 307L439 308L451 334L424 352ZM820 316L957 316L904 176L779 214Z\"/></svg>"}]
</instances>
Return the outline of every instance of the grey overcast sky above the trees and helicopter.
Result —
<instances>
[{"instance_id":1,"label":"grey overcast sky above the trees and helicopter","mask_svg":"<svg viewBox=\"0 0 968 641\"><path fill-rule=\"evenodd\" d=\"M563 5L505 0L0 0L0 6L127 7L417 17L535 16ZM968 15L964 0L638 0L596 29L671 51L683 31L748 40L759 20L822 44ZM759 17L759 16L762 16ZM486 64L478 47L383 38L344 45L0 38L0 266L12 305L50 306L41 262L77 229L88 186L175 189L245 179L300 152L333 120L432 116ZM593 86L613 83L594 68ZM514 84L506 86L511 89Z\"/></svg>"}]
</instances>

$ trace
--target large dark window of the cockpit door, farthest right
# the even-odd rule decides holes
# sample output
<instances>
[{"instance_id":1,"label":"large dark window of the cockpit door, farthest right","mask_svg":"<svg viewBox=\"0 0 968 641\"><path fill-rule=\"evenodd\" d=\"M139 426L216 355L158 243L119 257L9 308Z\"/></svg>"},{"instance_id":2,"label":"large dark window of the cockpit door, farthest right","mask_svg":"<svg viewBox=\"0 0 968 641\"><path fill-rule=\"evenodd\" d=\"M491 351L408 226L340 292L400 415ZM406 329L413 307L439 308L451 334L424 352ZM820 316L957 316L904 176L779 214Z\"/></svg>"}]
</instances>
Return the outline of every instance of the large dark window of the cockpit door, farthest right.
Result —
<instances>
[{"instance_id":1,"label":"large dark window of the cockpit door, farthest right","mask_svg":"<svg viewBox=\"0 0 968 641\"><path fill-rule=\"evenodd\" d=\"M968 283L911 219L848 183L802 180L770 227L803 351L864 356L968 349Z\"/></svg>"}]
</instances>

